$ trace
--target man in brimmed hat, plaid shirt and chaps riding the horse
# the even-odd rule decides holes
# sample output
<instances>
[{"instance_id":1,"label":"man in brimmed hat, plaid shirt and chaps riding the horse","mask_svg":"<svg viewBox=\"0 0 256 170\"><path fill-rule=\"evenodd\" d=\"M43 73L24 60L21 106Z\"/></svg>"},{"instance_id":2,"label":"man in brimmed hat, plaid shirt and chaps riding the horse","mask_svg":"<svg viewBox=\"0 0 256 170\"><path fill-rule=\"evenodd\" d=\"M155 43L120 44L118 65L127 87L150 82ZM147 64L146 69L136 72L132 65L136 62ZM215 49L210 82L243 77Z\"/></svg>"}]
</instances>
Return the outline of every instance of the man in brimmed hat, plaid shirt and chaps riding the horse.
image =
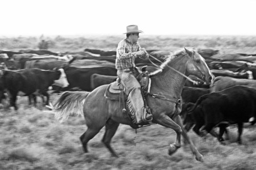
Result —
<instances>
[{"instance_id":1,"label":"man in brimmed hat, plaid shirt and chaps riding the horse","mask_svg":"<svg viewBox=\"0 0 256 170\"><path fill-rule=\"evenodd\" d=\"M135 70L134 60L136 57L147 59L148 54L139 45L139 33L143 33L143 31L138 29L138 25L128 25L126 30L126 33L124 33L126 34L126 39L118 43L115 68L117 69L117 76L121 80L126 94L129 94L128 105L131 105L133 108L132 111L135 113L133 123L140 125L144 122L152 121L152 114L148 113L147 109L144 108L141 85L133 73Z\"/></svg>"}]
</instances>

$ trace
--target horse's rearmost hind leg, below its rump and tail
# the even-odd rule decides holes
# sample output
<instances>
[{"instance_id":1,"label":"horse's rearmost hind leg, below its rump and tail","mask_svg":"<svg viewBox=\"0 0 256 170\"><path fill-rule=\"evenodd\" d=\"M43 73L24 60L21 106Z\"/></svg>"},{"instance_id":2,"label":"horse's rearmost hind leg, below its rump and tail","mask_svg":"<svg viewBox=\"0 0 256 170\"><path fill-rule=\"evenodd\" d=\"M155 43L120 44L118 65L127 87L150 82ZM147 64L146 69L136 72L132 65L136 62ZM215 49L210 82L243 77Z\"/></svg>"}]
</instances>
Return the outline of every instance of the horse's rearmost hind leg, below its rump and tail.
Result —
<instances>
[{"instance_id":1,"label":"horse's rearmost hind leg, below its rump and tail","mask_svg":"<svg viewBox=\"0 0 256 170\"><path fill-rule=\"evenodd\" d=\"M80 140L82 142L82 147L84 148L85 153L88 152L87 143L101 130L101 128L88 127L85 133L81 135Z\"/></svg>"}]
</instances>

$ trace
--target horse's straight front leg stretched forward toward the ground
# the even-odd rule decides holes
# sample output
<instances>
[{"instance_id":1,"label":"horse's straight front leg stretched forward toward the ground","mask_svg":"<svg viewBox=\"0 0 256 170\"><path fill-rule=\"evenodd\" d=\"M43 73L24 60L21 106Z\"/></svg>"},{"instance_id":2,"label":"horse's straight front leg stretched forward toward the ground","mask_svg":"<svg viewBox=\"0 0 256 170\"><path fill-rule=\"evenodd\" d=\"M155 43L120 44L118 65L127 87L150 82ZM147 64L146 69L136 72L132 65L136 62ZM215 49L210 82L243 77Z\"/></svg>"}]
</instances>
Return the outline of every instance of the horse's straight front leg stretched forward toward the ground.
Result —
<instances>
[{"instance_id":1,"label":"horse's straight front leg stretched forward toward the ground","mask_svg":"<svg viewBox=\"0 0 256 170\"><path fill-rule=\"evenodd\" d=\"M193 153L193 155L196 156L196 160L200 161L200 162L204 162L203 159L203 155L200 154L200 152L197 150L196 146L194 145L194 143L192 142L191 138L189 137L189 135L187 134L187 131L185 130L184 126L183 126L183 122L181 120L181 117L178 115L174 121L180 126L181 130L182 130L182 135L185 138L185 141L187 141L189 143L189 147Z\"/></svg>"}]
</instances>

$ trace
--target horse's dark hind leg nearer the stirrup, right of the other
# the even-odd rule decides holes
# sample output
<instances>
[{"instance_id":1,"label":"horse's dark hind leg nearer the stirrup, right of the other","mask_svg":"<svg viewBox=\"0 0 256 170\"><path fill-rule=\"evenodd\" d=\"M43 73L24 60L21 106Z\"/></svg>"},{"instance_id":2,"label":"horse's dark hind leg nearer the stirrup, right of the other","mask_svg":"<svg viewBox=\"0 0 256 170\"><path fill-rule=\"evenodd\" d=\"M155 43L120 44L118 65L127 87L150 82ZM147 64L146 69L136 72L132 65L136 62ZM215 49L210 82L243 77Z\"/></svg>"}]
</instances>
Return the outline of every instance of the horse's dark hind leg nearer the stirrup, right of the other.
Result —
<instances>
[{"instance_id":1,"label":"horse's dark hind leg nearer the stirrup, right of the other","mask_svg":"<svg viewBox=\"0 0 256 170\"><path fill-rule=\"evenodd\" d=\"M106 131L105 131L104 137L102 138L102 142L104 143L104 145L109 149L112 156L115 156L115 157L118 157L118 156L113 150L113 148L110 146L110 141L114 136L115 132L117 131L118 126L119 126L119 123L109 120L106 124Z\"/></svg>"}]
</instances>

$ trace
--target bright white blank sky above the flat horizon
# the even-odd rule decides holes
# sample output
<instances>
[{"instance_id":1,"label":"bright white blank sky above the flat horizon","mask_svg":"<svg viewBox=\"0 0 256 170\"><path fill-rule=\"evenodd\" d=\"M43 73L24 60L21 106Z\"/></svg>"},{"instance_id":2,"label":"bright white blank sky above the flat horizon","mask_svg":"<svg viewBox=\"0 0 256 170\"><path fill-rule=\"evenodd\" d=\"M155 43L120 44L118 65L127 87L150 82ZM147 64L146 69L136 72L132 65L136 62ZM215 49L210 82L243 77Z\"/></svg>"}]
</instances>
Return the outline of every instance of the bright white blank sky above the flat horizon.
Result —
<instances>
[{"instance_id":1,"label":"bright white blank sky above the flat horizon","mask_svg":"<svg viewBox=\"0 0 256 170\"><path fill-rule=\"evenodd\" d=\"M256 35L254 0L4 0L0 36Z\"/></svg>"}]
</instances>

